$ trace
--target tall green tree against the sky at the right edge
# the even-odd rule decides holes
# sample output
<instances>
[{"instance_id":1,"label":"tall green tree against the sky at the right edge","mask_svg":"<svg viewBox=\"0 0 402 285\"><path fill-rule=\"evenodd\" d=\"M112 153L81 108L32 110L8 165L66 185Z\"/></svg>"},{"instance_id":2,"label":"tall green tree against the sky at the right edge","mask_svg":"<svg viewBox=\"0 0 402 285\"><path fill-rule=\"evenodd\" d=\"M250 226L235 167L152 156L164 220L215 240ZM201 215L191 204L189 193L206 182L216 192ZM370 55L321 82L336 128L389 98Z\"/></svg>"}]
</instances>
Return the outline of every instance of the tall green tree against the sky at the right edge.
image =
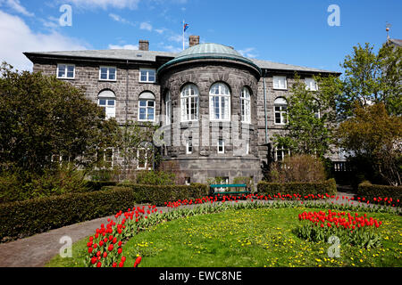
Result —
<instances>
[{"instance_id":1,"label":"tall green tree against the sky at the right edge","mask_svg":"<svg viewBox=\"0 0 402 285\"><path fill-rule=\"evenodd\" d=\"M382 45L379 52L373 46L360 44L353 47L340 65L344 69L341 79L333 79L337 90L337 111L340 119L353 116L354 104L361 106L382 102L389 115L402 114L402 49Z\"/></svg>"}]
</instances>

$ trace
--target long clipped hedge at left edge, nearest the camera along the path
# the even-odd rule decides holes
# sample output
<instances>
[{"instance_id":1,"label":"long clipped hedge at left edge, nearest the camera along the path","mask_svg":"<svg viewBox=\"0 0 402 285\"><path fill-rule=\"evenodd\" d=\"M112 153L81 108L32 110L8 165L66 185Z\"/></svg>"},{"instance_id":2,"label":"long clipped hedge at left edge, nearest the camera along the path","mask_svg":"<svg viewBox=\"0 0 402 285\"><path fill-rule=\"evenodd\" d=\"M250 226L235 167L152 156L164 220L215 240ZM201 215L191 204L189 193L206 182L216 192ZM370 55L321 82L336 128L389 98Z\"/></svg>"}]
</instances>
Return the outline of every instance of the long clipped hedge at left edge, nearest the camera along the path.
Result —
<instances>
[{"instance_id":1,"label":"long clipped hedge at left edge, nearest the camera along the path","mask_svg":"<svg viewBox=\"0 0 402 285\"><path fill-rule=\"evenodd\" d=\"M13 240L114 215L121 208L132 208L135 203L135 192L121 187L0 204L0 240Z\"/></svg>"}]
</instances>

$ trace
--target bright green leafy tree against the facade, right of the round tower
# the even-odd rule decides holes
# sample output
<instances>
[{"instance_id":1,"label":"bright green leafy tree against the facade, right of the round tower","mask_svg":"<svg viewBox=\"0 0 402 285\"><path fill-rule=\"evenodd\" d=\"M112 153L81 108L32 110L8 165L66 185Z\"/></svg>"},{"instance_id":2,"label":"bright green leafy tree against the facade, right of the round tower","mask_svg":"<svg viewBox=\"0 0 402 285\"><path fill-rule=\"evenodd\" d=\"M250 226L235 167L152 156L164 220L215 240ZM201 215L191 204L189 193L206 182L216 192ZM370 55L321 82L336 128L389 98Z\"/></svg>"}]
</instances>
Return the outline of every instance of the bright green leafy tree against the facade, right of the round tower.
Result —
<instances>
[{"instance_id":1,"label":"bright green leafy tree against the facade, right of the round tower","mask_svg":"<svg viewBox=\"0 0 402 285\"><path fill-rule=\"evenodd\" d=\"M274 142L292 153L322 158L330 150L331 126L335 118L331 85L313 92L295 76L288 102L286 134L275 135ZM318 79L317 79L318 80Z\"/></svg>"}]
</instances>

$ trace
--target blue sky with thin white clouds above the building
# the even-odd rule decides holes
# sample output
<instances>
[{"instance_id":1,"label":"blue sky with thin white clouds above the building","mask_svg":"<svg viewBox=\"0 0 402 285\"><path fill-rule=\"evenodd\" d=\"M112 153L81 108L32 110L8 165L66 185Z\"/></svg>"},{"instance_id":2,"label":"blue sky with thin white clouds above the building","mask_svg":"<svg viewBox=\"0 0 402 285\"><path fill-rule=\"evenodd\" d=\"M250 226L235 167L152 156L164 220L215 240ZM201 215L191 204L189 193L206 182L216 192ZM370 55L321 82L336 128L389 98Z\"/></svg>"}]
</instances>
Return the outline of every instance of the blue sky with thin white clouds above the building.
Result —
<instances>
[{"instance_id":1,"label":"blue sky with thin white clouds above the building","mask_svg":"<svg viewBox=\"0 0 402 285\"><path fill-rule=\"evenodd\" d=\"M63 4L70 4L72 26L62 27ZM340 26L329 26L327 9L337 4ZM138 48L182 50L186 33L201 42L233 46L247 57L342 71L339 63L353 45L376 48L402 38L400 0L0 0L0 61L31 69L25 51ZM5 45L4 45L5 44Z\"/></svg>"}]
</instances>

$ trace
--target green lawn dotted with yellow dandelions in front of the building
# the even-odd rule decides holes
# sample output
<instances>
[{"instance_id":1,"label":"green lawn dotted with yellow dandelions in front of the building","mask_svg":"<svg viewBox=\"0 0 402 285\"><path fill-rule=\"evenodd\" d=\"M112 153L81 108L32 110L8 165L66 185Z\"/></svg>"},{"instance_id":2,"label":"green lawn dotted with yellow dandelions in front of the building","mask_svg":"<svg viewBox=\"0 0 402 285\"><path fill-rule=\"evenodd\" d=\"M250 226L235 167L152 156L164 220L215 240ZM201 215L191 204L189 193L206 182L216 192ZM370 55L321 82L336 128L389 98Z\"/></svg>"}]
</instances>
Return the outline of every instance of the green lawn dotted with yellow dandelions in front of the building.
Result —
<instances>
[{"instance_id":1,"label":"green lawn dotted with yellow dandelions in front of the building","mask_svg":"<svg viewBox=\"0 0 402 285\"><path fill-rule=\"evenodd\" d=\"M341 246L340 257L327 254L331 244L300 240L292 232L297 215L311 208L257 208L190 216L140 232L123 246L126 266L402 266L402 216L370 213L380 219L382 248ZM315 209L317 210L317 209ZM363 213L363 212L362 212ZM83 266L88 239L73 245L73 258L55 256L48 266Z\"/></svg>"}]
</instances>

